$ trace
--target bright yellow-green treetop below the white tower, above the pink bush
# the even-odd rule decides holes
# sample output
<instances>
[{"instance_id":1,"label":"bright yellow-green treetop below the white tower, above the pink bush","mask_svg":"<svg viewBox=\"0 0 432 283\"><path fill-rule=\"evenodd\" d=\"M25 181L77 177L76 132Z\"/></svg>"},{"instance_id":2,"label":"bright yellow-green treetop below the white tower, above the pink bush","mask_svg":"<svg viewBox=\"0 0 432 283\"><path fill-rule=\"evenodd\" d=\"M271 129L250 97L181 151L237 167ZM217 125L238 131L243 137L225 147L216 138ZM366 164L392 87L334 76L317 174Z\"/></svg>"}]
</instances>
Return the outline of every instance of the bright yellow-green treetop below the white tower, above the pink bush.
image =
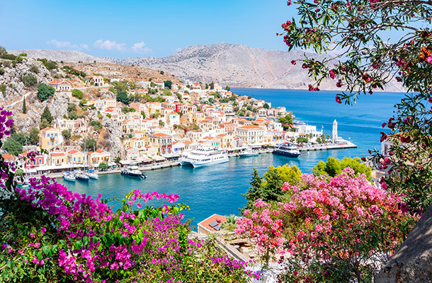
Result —
<instances>
[{"instance_id":1,"label":"bright yellow-green treetop below the white tower, above the pink bush","mask_svg":"<svg viewBox=\"0 0 432 283\"><path fill-rule=\"evenodd\" d=\"M329 175L330 177L334 177L342 173L345 168L353 169L354 173L357 175L365 174L366 179L372 180L372 175L370 173L371 168L366 166L365 163L362 163L360 158L343 158L342 160L329 157L327 161L319 161L317 166L314 166L312 173L314 175Z\"/></svg>"}]
</instances>

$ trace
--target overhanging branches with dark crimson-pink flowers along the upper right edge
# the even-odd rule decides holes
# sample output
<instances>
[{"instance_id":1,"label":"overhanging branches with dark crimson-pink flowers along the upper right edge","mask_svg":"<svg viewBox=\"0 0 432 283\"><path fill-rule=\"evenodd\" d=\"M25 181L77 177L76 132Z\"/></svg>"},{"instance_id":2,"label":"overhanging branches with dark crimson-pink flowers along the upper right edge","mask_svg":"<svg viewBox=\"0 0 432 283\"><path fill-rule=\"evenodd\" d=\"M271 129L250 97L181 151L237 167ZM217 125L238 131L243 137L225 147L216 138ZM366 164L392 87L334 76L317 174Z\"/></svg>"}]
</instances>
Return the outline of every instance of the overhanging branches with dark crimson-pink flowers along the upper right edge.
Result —
<instances>
[{"instance_id":1,"label":"overhanging branches with dark crimson-pink flowers along the upper right edge","mask_svg":"<svg viewBox=\"0 0 432 283\"><path fill-rule=\"evenodd\" d=\"M431 2L296 3L300 21L292 19L282 25L288 49L341 50L336 57L303 60L302 66L317 81L309 90L317 90L322 79L334 79L336 86L346 89L336 96L336 102L346 104L394 80L411 93L395 105L393 117L382 125L387 132L382 132L381 140L391 144L390 156L373 151L373 160L377 167L388 168L381 186L402 192L411 211L423 212L432 204Z\"/></svg>"}]
</instances>

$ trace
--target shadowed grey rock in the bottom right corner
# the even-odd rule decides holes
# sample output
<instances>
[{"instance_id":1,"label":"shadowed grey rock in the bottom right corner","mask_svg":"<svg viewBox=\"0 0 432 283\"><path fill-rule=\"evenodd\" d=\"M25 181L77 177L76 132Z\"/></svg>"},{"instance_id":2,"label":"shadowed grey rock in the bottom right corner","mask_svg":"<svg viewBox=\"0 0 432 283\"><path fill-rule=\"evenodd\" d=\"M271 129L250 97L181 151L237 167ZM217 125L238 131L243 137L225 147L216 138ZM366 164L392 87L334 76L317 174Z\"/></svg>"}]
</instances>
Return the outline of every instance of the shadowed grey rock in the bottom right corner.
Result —
<instances>
[{"instance_id":1,"label":"shadowed grey rock in the bottom right corner","mask_svg":"<svg viewBox=\"0 0 432 283\"><path fill-rule=\"evenodd\" d=\"M432 282L432 206L380 272L375 283Z\"/></svg>"}]
</instances>

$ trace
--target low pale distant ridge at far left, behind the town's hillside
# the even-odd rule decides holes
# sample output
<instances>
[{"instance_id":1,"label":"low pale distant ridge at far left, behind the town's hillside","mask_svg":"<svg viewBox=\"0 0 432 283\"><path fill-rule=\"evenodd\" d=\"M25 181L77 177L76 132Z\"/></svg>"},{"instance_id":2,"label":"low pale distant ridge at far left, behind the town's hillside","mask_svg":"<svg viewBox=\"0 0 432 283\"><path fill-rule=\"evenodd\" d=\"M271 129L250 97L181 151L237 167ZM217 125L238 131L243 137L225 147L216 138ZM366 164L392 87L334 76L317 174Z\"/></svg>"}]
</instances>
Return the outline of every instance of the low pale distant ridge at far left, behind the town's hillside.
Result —
<instances>
[{"instance_id":1,"label":"low pale distant ridge at far left, behind the town's hillside","mask_svg":"<svg viewBox=\"0 0 432 283\"><path fill-rule=\"evenodd\" d=\"M46 58L52 61L63 61L63 62L107 62L106 59L100 57L94 57L89 54L72 51L72 50L8 50L8 53L18 55L20 53L26 53L29 57L33 58Z\"/></svg>"}]
</instances>

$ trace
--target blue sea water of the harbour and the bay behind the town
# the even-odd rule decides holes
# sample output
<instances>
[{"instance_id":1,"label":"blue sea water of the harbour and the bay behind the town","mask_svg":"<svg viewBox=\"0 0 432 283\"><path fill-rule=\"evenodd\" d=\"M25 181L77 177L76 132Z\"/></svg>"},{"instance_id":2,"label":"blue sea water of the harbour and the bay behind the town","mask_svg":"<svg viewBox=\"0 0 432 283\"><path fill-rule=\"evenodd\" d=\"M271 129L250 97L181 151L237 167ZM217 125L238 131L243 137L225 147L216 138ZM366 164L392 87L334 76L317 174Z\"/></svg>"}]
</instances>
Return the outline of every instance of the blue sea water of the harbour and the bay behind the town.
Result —
<instances>
[{"instance_id":1,"label":"blue sea water of the harbour and the bay behind the town","mask_svg":"<svg viewBox=\"0 0 432 283\"><path fill-rule=\"evenodd\" d=\"M229 158L229 163L217 166L191 168L174 167L146 171L147 179L139 180L120 174L100 175L99 180L89 183L76 181L68 183L59 180L69 190L81 194L104 198L113 196L120 200L131 190L142 192L166 192L180 196L178 202L191 207L186 214L193 219L193 224L212 214L238 214L239 208L245 204L241 196L247 191L251 173L257 168L260 174L268 166L282 166L285 163L295 165L303 173L311 173L318 161L326 161L329 156L334 158L356 157L368 155L368 149L380 147L382 122L392 116L393 105L400 101L403 93L374 93L372 96L361 96L354 106L340 105L335 102L334 91L297 91L279 89L233 88L239 95L252 96L271 102L272 106L285 106L296 116L317 129L324 126L324 134L331 135L333 121L339 124L339 136L351 139L357 149L341 149L331 151L303 152L299 158L287 158L273 154L261 154L249 158ZM118 202L112 202L115 209ZM160 203L159 203L160 204Z\"/></svg>"}]
</instances>

